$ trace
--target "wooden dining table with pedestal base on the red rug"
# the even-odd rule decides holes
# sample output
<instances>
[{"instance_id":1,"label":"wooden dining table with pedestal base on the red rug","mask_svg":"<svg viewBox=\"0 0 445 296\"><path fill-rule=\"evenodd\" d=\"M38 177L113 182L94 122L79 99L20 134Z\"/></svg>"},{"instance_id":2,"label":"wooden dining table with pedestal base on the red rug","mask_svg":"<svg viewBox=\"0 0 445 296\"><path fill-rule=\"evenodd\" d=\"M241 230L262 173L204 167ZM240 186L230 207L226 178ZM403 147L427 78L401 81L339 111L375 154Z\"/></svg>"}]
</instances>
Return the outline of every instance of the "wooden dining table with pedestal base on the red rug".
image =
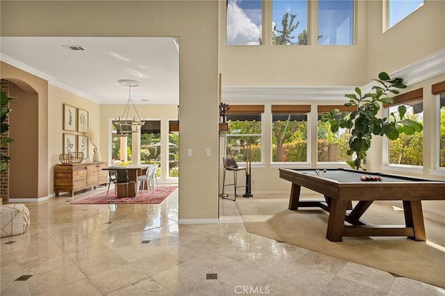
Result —
<instances>
[{"instance_id":1,"label":"wooden dining table with pedestal base on the red rug","mask_svg":"<svg viewBox=\"0 0 445 296\"><path fill-rule=\"evenodd\" d=\"M138 194L138 176L142 176L147 172L149 165L115 165L111 167L104 167L102 170L115 170L118 174L118 179L126 179L128 176L129 182L134 182L135 186L129 186L127 183L116 184L117 197L136 197Z\"/></svg>"}]
</instances>

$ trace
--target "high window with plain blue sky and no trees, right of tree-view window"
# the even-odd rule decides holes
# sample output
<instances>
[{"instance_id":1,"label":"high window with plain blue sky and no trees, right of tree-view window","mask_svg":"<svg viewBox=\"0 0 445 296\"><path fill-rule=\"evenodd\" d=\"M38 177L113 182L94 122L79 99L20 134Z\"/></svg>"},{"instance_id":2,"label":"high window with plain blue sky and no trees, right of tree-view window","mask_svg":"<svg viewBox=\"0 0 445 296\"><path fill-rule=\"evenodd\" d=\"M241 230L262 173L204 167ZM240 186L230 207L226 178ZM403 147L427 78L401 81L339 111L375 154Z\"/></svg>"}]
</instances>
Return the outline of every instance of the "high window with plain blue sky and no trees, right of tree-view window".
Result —
<instances>
[{"instance_id":1,"label":"high window with plain blue sky and no trees, right of tree-view window","mask_svg":"<svg viewBox=\"0 0 445 296\"><path fill-rule=\"evenodd\" d=\"M318 44L352 45L353 0L318 1Z\"/></svg>"}]
</instances>

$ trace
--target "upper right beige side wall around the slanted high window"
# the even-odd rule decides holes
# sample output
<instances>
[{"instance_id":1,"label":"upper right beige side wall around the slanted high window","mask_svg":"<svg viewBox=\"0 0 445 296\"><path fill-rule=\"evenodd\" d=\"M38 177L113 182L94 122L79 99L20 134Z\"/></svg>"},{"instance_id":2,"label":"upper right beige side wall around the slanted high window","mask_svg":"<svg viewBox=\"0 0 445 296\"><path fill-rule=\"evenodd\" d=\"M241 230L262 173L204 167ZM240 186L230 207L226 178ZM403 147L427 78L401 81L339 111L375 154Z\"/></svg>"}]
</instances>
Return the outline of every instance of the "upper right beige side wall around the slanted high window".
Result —
<instances>
[{"instance_id":1,"label":"upper right beige side wall around the slanted high window","mask_svg":"<svg viewBox=\"0 0 445 296\"><path fill-rule=\"evenodd\" d=\"M381 71L394 72L445 49L445 1L425 0L421 8L385 32L380 25L382 1L366 2L367 79Z\"/></svg>"}]
</instances>

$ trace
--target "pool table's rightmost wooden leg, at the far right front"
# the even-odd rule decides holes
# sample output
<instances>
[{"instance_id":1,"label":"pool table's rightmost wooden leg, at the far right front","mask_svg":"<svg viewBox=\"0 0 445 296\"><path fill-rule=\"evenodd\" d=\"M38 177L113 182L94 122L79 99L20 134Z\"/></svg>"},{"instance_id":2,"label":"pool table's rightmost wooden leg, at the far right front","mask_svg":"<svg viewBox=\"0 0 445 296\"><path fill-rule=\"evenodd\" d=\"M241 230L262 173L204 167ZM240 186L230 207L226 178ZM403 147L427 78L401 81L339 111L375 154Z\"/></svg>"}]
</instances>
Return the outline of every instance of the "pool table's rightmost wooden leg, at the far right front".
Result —
<instances>
[{"instance_id":1,"label":"pool table's rightmost wooden leg, at the far right front","mask_svg":"<svg viewBox=\"0 0 445 296\"><path fill-rule=\"evenodd\" d=\"M404 200L403 213L405 214L406 227L412 227L412 229L414 229L414 237L408 236L408 238L412 240L426 240L421 201Z\"/></svg>"}]
</instances>

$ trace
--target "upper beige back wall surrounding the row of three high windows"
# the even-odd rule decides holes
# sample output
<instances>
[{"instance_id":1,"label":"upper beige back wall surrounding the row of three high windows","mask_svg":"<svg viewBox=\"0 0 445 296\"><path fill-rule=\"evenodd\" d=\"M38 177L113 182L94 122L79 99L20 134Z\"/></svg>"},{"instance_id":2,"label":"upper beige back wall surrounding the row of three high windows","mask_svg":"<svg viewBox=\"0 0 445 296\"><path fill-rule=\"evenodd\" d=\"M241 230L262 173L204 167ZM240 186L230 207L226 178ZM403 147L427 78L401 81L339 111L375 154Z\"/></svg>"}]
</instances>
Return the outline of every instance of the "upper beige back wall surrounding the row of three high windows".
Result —
<instances>
[{"instance_id":1,"label":"upper beige back wall surrounding the row of three high windows","mask_svg":"<svg viewBox=\"0 0 445 296\"><path fill-rule=\"evenodd\" d=\"M363 85L366 81L366 1L356 1L355 45L318 46L317 36L310 36L307 46L271 45L271 20L264 20L264 45L225 45L225 2L220 3L220 72L223 87L239 85ZM313 19L318 2L309 1ZM271 15L271 1L264 2L264 15ZM309 22L309 32L318 24ZM310 33L309 33L310 34ZM224 101L223 97L223 101Z\"/></svg>"}]
</instances>

